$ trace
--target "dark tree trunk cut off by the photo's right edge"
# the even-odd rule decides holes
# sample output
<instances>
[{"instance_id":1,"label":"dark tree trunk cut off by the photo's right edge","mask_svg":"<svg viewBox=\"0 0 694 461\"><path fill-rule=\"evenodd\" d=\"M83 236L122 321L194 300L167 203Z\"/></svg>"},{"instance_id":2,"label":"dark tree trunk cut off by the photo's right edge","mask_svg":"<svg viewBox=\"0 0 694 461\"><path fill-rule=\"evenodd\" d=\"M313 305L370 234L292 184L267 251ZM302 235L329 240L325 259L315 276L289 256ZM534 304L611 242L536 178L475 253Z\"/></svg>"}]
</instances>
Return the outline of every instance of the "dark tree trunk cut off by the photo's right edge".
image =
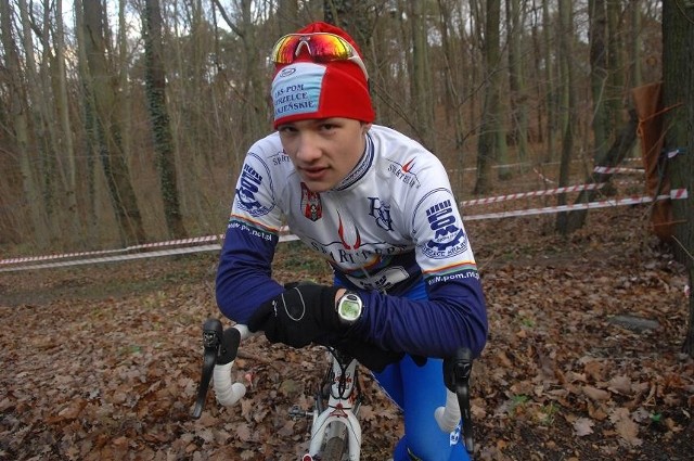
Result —
<instances>
[{"instance_id":1,"label":"dark tree trunk cut off by the photo's right edge","mask_svg":"<svg viewBox=\"0 0 694 461\"><path fill-rule=\"evenodd\" d=\"M664 152L673 189L689 197L672 201L673 251L689 272L689 326L683 351L694 357L694 3L663 2ZM668 155L670 157L670 155Z\"/></svg>"}]
</instances>

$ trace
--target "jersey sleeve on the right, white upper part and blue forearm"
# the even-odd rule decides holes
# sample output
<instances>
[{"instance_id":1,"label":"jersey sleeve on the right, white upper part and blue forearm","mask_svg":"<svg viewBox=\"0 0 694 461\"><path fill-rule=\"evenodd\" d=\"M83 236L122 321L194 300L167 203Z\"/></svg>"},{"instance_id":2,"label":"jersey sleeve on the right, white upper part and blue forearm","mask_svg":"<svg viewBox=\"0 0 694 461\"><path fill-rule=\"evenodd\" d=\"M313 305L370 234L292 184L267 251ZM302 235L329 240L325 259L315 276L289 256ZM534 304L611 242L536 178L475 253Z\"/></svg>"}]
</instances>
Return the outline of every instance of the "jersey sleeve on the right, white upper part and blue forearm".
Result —
<instances>
[{"instance_id":1,"label":"jersey sleeve on the right, white upper part and blue forearm","mask_svg":"<svg viewBox=\"0 0 694 461\"><path fill-rule=\"evenodd\" d=\"M355 328L390 350L447 357L465 346L478 356L487 342L487 310L463 219L442 167L419 175L438 185L413 189L403 201L426 286L419 297L426 299L364 293L364 315Z\"/></svg>"}]
</instances>

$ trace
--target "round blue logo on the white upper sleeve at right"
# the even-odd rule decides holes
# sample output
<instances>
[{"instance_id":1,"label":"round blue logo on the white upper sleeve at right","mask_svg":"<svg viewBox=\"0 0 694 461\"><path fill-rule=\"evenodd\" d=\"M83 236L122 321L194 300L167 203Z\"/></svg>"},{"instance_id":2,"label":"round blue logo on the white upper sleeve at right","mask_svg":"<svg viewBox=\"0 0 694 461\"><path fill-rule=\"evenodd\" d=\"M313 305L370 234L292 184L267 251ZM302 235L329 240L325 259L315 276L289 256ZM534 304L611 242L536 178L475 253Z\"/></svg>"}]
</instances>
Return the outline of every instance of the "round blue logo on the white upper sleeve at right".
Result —
<instances>
[{"instance_id":1,"label":"round blue logo on the white upper sleeve at right","mask_svg":"<svg viewBox=\"0 0 694 461\"><path fill-rule=\"evenodd\" d=\"M434 259L459 255L467 249L467 239L453 213L450 200L437 203L426 210L426 218L434 231L434 238L423 246L422 252Z\"/></svg>"}]
</instances>

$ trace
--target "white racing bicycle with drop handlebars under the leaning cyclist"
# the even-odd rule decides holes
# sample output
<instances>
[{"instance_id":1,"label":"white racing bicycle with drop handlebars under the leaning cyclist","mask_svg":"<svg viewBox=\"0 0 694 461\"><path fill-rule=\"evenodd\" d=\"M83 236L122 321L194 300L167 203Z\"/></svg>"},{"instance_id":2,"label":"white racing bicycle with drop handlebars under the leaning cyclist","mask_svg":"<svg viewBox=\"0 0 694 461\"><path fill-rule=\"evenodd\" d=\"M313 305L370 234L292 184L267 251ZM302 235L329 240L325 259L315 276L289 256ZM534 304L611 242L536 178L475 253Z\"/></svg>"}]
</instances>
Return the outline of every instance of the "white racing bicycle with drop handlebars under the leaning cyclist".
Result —
<instances>
[{"instance_id":1,"label":"white racing bicycle with drop handlebars under the leaning cyclist","mask_svg":"<svg viewBox=\"0 0 694 461\"><path fill-rule=\"evenodd\" d=\"M211 379L217 401L234 406L246 394L246 386L234 383L231 369L241 342L253 333L243 324L222 330L218 319L207 319L203 325L203 369L193 418L202 415ZM290 409L290 417L311 418L308 452L301 461L358 461L361 456L361 424L357 418L362 402L356 359L327 348L332 359L319 389L312 411L298 406ZM435 411L435 419L446 433L455 430L463 417L463 443L473 452L472 413L470 410L470 374L472 354L461 348L455 357L444 361L444 381L447 386L445 407Z\"/></svg>"}]
</instances>

